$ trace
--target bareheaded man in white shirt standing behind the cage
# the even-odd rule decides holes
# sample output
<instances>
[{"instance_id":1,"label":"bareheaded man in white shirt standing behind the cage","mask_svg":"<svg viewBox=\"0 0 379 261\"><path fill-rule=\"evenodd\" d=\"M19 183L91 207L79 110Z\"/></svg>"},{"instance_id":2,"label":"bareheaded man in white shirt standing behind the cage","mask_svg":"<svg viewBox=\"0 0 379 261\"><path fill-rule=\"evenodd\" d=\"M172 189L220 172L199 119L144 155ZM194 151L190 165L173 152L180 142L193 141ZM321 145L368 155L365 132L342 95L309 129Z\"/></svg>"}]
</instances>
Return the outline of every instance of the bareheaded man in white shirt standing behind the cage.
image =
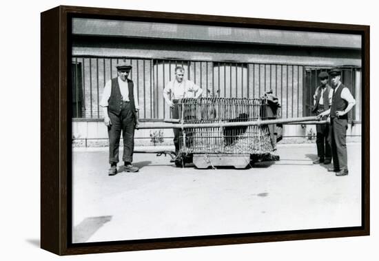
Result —
<instances>
[{"instance_id":1,"label":"bareheaded man in white shirt standing behind the cage","mask_svg":"<svg viewBox=\"0 0 379 261\"><path fill-rule=\"evenodd\" d=\"M163 90L163 98L167 105L171 107L172 118L179 118L178 100L180 98L198 98L203 93L201 87L193 81L184 79L184 68L182 66L175 67L175 79L168 82ZM174 129L174 145L175 154L179 152L179 136L180 129Z\"/></svg>"}]
</instances>

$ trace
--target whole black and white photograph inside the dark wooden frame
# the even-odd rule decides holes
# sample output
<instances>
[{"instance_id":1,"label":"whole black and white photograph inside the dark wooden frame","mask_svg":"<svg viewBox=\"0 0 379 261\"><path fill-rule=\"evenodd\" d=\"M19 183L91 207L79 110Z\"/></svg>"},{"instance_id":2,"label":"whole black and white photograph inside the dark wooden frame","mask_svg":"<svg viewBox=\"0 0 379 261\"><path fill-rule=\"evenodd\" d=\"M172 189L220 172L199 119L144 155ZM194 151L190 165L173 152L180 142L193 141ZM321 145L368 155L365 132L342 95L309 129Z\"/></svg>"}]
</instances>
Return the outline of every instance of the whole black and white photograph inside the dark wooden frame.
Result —
<instances>
[{"instance_id":1,"label":"whole black and white photograph inside the dark wooden frame","mask_svg":"<svg viewBox=\"0 0 379 261\"><path fill-rule=\"evenodd\" d=\"M362 226L362 36L72 17L72 244Z\"/></svg>"}]
</instances>

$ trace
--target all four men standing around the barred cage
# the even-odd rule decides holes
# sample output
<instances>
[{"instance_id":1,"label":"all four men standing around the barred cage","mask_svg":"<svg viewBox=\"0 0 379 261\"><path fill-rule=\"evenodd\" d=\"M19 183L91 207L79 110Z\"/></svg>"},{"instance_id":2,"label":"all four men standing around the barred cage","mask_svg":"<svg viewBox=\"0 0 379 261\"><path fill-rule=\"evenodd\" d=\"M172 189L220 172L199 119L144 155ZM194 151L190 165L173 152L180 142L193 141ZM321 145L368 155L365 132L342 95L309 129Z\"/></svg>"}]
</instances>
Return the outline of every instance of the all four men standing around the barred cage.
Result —
<instances>
[{"instance_id":1,"label":"all four men standing around the barred cage","mask_svg":"<svg viewBox=\"0 0 379 261\"><path fill-rule=\"evenodd\" d=\"M103 108L104 123L107 126L109 137L109 163L108 175L117 174L119 163L119 145L121 132L123 135L123 171L136 172L139 168L132 165L134 151L134 129L138 127L137 113L139 102L136 86L127 77L132 65L118 63L117 77L105 84L101 107ZM194 82L184 79L184 68L175 67L175 79L165 85L163 98L172 109L172 118L179 118L178 100L181 98L198 98L203 90ZM331 85L328 84L329 75ZM322 120L329 123L317 125L316 145L318 159L315 164L330 164L333 159L334 167L328 171L336 172L336 176L346 176L347 169L347 113L356 104L349 89L340 81L340 70L320 72L318 75L321 85L314 94L313 112ZM179 152L180 130L174 129L174 145L176 155Z\"/></svg>"}]
</instances>

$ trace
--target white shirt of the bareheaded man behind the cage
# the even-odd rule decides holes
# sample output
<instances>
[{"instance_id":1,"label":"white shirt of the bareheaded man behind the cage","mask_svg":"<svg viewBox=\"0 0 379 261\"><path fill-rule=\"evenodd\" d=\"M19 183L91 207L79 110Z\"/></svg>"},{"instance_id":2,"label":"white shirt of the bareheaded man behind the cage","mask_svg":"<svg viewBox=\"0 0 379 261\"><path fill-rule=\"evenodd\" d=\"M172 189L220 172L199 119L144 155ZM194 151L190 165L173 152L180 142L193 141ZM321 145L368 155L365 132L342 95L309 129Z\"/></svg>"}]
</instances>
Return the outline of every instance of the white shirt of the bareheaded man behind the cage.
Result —
<instances>
[{"instance_id":1,"label":"white shirt of the bareheaded man behind the cage","mask_svg":"<svg viewBox=\"0 0 379 261\"><path fill-rule=\"evenodd\" d=\"M181 83L178 83L176 79L170 81L163 89L163 95L167 95L171 92L170 99L179 99L179 98L195 98L196 92L198 92L200 87L196 85L193 81L185 80Z\"/></svg>"}]
</instances>

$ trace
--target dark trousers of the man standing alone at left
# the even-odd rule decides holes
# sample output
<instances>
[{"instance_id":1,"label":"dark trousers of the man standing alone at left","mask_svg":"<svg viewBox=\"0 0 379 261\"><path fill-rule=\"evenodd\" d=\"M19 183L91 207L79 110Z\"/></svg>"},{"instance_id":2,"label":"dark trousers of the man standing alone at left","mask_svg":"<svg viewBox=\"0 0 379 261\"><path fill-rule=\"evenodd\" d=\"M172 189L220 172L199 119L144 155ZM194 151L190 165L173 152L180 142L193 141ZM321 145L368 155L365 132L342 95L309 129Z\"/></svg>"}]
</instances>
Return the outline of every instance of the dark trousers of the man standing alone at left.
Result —
<instances>
[{"instance_id":1,"label":"dark trousers of the man standing alone at left","mask_svg":"<svg viewBox=\"0 0 379 261\"><path fill-rule=\"evenodd\" d=\"M123 161L132 163L134 150L134 113L130 102L123 102L119 115L108 112L112 125L108 127L110 142L110 164L119 163L119 147L121 132L123 132Z\"/></svg>"}]
</instances>

